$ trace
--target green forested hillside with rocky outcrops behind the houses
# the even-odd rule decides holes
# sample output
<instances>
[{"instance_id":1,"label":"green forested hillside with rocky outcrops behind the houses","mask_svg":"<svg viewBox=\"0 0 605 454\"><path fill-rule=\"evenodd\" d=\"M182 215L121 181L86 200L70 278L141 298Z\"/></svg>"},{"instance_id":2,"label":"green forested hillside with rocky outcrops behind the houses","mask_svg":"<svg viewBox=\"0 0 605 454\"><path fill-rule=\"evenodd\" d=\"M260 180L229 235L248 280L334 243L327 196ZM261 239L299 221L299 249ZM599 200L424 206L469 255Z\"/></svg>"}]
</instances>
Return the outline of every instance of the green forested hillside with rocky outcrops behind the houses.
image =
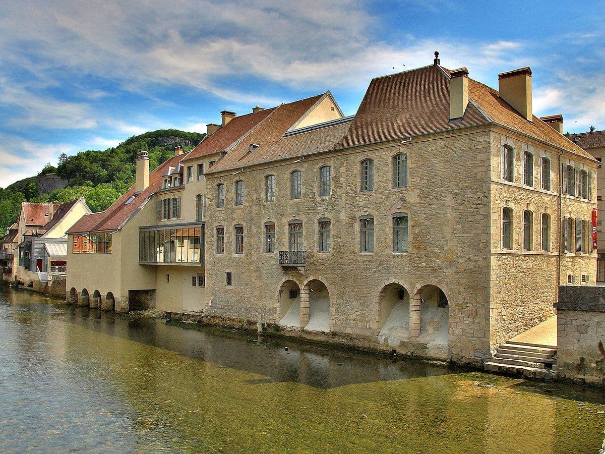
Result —
<instances>
[{"instance_id":1,"label":"green forested hillside with rocky outcrops behind the houses","mask_svg":"<svg viewBox=\"0 0 605 454\"><path fill-rule=\"evenodd\" d=\"M67 188L38 197L36 176L0 188L0 237L15 222L21 202L64 203L86 197L90 209L103 211L134 184L139 151L149 152L149 169L155 169L174 155L176 145L183 145L185 151L191 150L205 135L158 130L129 137L116 148L104 151L81 151L74 156L62 153L56 167L48 163L40 174L56 173L62 179L68 179Z\"/></svg>"}]
</instances>

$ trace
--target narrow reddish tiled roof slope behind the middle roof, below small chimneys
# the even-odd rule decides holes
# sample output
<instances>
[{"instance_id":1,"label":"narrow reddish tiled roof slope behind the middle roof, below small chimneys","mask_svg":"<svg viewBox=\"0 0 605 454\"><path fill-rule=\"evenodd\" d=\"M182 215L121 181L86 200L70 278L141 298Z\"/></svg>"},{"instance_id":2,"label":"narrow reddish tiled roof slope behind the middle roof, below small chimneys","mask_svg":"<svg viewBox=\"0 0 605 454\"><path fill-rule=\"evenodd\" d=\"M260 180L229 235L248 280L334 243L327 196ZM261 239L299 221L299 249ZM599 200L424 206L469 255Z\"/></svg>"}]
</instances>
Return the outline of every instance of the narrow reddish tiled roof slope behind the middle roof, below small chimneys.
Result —
<instances>
[{"instance_id":1,"label":"narrow reddish tiled roof slope behind the middle roof, below small chimneys","mask_svg":"<svg viewBox=\"0 0 605 454\"><path fill-rule=\"evenodd\" d=\"M263 121L274 109L275 107L235 117L223 127L218 128L214 134L198 143L185 160L197 159L198 157L225 150Z\"/></svg>"}]
</instances>

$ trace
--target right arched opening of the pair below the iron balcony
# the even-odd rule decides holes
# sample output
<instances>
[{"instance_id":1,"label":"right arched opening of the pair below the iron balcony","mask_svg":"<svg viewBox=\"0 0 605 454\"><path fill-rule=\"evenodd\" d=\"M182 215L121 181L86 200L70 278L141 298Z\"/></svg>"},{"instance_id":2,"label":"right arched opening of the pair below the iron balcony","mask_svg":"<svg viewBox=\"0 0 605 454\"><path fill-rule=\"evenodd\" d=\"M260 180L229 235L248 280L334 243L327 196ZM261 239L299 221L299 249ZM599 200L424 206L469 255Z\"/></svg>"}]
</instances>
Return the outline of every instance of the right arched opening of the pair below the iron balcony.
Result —
<instances>
[{"instance_id":1,"label":"right arched opening of the pair below the iron balcony","mask_svg":"<svg viewBox=\"0 0 605 454\"><path fill-rule=\"evenodd\" d=\"M308 331L330 331L330 291L324 282L312 276L302 285L301 326Z\"/></svg>"}]
</instances>

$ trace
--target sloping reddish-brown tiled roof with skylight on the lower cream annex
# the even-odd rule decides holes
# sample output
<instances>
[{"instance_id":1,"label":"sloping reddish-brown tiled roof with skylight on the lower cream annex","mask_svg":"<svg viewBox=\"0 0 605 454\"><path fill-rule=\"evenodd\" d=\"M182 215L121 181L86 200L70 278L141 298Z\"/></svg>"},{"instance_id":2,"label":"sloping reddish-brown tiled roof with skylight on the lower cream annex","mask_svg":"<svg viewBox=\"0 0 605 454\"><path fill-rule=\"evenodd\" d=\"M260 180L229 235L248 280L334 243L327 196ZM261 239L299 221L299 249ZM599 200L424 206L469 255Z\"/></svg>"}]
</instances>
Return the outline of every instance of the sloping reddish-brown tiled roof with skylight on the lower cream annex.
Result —
<instances>
[{"instance_id":1,"label":"sloping reddish-brown tiled roof with skylight on the lower cream annex","mask_svg":"<svg viewBox=\"0 0 605 454\"><path fill-rule=\"evenodd\" d=\"M67 231L68 233L87 233L96 231L116 230L122 228L122 224L134 214L149 197L162 188L162 174L168 166L175 167L181 160L185 159L187 153L173 156L149 174L149 186L145 191L135 193L135 185L132 185L122 197L116 200L108 209L98 213L83 215ZM135 196L132 202L125 205L130 197Z\"/></svg>"}]
</instances>

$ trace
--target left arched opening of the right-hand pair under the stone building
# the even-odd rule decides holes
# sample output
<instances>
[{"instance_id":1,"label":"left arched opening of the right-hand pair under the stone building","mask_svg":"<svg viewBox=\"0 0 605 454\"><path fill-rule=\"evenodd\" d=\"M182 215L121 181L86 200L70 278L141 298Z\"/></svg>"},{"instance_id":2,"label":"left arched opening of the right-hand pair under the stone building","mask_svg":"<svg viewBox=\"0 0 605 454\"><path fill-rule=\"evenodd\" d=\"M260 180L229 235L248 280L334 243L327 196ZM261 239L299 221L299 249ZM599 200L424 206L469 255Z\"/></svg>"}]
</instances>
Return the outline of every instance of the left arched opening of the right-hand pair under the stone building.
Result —
<instances>
[{"instance_id":1,"label":"left arched opening of the right-hand pair under the stone building","mask_svg":"<svg viewBox=\"0 0 605 454\"><path fill-rule=\"evenodd\" d=\"M410 340L410 294L397 283L385 285L378 298L378 342L397 346Z\"/></svg>"}]
</instances>

